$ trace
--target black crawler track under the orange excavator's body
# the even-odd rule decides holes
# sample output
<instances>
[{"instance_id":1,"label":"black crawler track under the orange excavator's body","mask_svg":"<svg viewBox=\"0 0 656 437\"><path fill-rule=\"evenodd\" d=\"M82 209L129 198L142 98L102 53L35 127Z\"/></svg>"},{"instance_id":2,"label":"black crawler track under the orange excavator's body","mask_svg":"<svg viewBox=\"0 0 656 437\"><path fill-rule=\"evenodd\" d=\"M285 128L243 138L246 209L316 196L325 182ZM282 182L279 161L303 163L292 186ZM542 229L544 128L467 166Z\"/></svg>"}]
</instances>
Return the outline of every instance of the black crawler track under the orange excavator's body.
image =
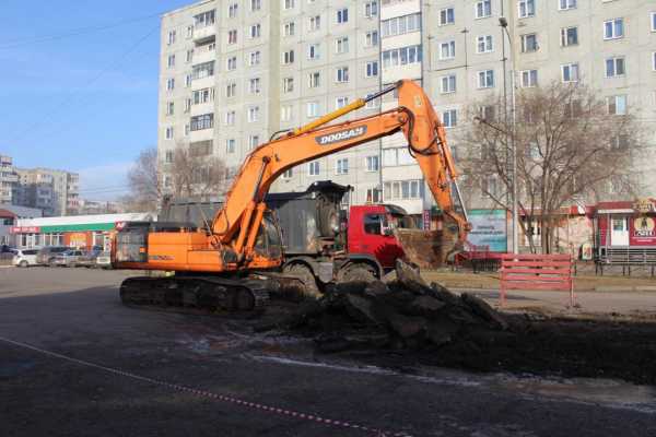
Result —
<instances>
[{"instance_id":1,"label":"black crawler track under the orange excavator's body","mask_svg":"<svg viewBox=\"0 0 656 437\"><path fill-rule=\"evenodd\" d=\"M128 277L120 284L125 305L176 312L253 312L269 300L267 280L216 276Z\"/></svg>"}]
</instances>

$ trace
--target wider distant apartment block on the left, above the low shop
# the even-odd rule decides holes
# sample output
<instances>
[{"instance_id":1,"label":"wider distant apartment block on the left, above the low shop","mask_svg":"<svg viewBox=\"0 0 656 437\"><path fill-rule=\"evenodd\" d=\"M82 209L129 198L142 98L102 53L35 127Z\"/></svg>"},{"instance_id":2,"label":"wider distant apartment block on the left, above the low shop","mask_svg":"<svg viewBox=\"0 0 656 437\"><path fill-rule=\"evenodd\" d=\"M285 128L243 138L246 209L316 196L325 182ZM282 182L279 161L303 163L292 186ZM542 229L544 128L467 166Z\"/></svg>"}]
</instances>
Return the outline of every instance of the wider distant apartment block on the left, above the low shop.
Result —
<instances>
[{"instance_id":1,"label":"wider distant apartment block on the left, above the low shop","mask_svg":"<svg viewBox=\"0 0 656 437\"><path fill-rule=\"evenodd\" d=\"M74 215L79 209L79 175L50 168L16 168L13 203L37 208L45 216Z\"/></svg>"}]
</instances>

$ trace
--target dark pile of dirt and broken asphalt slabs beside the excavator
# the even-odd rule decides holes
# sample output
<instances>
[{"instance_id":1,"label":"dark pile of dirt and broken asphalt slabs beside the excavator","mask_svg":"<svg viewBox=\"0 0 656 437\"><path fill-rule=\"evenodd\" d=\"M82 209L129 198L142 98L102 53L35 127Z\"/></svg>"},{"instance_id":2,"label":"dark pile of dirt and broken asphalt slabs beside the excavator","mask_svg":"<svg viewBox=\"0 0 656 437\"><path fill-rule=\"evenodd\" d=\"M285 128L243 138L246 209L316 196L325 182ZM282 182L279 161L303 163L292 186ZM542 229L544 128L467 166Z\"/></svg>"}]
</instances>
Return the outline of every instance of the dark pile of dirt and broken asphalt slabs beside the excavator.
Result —
<instances>
[{"instance_id":1,"label":"dark pile of dirt and broken asphalt slabs beside the excavator","mask_svg":"<svg viewBox=\"0 0 656 437\"><path fill-rule=\"evenodd\" d=\"M286 329L314 334L319 350L375 346L394 350L440 347L472 331L502 332L508 322L482 299L427 285L398 261L391 283L338 284L320 299L302 305Z\"/></svg>"}]
</instances>

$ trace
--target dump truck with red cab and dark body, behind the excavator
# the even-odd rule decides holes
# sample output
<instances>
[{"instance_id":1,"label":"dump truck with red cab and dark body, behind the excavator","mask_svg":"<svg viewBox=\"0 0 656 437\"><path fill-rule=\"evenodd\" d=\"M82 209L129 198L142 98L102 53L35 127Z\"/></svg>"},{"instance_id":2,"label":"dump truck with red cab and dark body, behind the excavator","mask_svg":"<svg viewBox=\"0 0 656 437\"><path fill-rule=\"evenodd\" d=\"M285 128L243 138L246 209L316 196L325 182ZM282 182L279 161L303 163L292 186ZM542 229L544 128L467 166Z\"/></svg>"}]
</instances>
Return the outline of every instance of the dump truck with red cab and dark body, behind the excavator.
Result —
<instances>
[{"instance_id":1,"label":"dump truck with red cab and dark body, behind the excavator","mask_svg":"<svg viewBox=\"0 0 656 437\"><path fill-rule=\"evenodd\" d=\"M283 271L302 277L311 291L329 282L382 277L403 257L398 228L411 226L406 211L388 204L342 204L351 187L317 181L301 192L267 196L282 232ZM201 227L221 201L166 201L161 222L190 222Z\"/></svg>"}]
</instances>

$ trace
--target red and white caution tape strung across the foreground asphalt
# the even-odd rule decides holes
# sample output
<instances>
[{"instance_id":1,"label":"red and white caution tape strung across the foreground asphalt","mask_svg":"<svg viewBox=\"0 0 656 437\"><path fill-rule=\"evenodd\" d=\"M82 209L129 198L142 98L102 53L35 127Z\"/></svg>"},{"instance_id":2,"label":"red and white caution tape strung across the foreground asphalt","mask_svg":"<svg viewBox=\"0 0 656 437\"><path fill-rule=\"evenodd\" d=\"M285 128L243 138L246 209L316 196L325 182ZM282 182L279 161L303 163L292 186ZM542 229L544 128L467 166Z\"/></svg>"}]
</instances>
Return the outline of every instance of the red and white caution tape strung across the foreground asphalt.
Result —
<instances>
[{"instance_id":1,"label":"red and white caution tape strung across the foreground asphalt","mask_svg":"<svg viewBox=\"0 0 656 437\"><path fill-rule=\"evenodd\" d=\"M227 403L232 403L235 405L239 405L239 406L245 406L248 409L254 409L254 410L259 410L259 411L263 411L263 412L268 412L268 413L273 413L273 414L279 414L279 415L283 415L283 416L288 416L288 417L293 417L293 418L298 418L298 420L303 420L303 421L309 421L309 422L315 422L315 423L320 423L324 425L329 425L329 426L335 426L335 427L341 427L341 428L349 428L349 429L355 429L355 430L361 430L363 433L370 434L370 435L374 435L377 437L412 437L411 435L405 433L405 432L387 432L387 430L383 430L379 428L373 428L370 426L364 426L364 425L359 425L359 424L354 424L352 422L347 422L347 421L336 421L336 420L331 420L331 418L326 418L323 417L320 415L316 415L316 414L307 414L307 413L301 413L297 411L293 411L293 410L288 410L288 409L281 409L281 408L276 408L276 406L271 406L271 405L267 405L267 404L262 404L262 403L258 403L258 402L249 402L249 401L245 401L243 399L238 399L238 398L234 398L234 397L230 397L230 395L225 395L225 394L219 394L219 393L213 393L211 391L207 391L207 390L198 390L198 389L192 389L190 387L186 387L186 386L180 386L179 383L173 383L173 382L167 382L167 381L162 381L159 379L154 379L154 378L149 378L145 376L141 376L141 375L137 375L137 374L132 374L130 371L125 371L125 370L120 370L120 369L116 369L116 368L112 368L112 367L107 367L107 366L102 366L99 364L95 364L95 363L91 363L84 359L78 359L78 358L73 358L71 356L68 355L62 355L62 354L58 354L57 352L51 352L51 351L46 351L44 349L40 347L36 347L33 346L31 344L27 343L22 343L15 340L11 340L11 339L5 339L0 336L0 341L3 341L5 343L9 344L13 344L15 346L20 346L20 347L24 347L24 349L28 349L31 351L35 351L35 352L39 352L42 354L45 355L49 355L59 359L63 359L70 363L75 363L82 366L86 366L86 367L93 367L99 370L104 370L114 375L119 375L119 376L124 376L127 378L132 378L132 379L137 379L143 382L149 382L149 383L153 383L156 386L163 386L163 387L167 387L169 389L174 389L177 391L181 391L181 392L186 392L186 393L190 393L197 397L201 397L201 398L209 398L209 399L213 399L216 401L222 401L222 402L227 402Z\"/></svg>"}]
</instances>

